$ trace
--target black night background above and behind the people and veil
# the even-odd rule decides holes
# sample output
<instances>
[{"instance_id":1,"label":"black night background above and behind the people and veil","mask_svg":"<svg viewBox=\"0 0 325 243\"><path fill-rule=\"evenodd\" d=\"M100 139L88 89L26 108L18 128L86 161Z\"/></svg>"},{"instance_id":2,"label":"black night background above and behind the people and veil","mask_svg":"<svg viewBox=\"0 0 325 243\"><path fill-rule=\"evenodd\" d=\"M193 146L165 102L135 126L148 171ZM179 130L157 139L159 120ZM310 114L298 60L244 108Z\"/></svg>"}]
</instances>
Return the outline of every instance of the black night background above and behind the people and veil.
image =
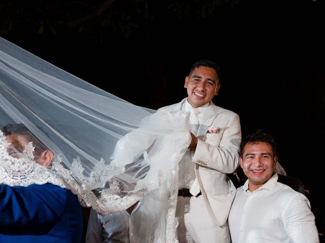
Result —
<instances>
[{"instance_id":1,"label":"black night background above and behind the people and veil","mask_svg":"<svg viewBox=\"0 0 325 243\"><path fill-rule=\"evenodd\" d=\"M311 0L0 1L0 35L153 109L186 96L194 62L216 61L214 103L239 114L243 136L263 129L275 138L323 233L324 10Z\"/></svg>"}]
</instances>

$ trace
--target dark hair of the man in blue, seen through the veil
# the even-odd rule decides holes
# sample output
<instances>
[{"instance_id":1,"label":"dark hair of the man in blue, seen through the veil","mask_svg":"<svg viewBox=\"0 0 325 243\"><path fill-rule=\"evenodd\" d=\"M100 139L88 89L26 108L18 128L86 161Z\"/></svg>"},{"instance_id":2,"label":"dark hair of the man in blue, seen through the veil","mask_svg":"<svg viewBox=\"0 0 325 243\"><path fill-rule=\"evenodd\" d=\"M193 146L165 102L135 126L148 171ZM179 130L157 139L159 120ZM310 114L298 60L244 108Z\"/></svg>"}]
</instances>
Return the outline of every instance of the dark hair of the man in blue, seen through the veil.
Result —
<instances>
[{"instance_id":1,"label":"dark hair of the man in blue, seen through the veil","mask_svg":"<svg viewBox=\"0 0 325 243\"><path fill-rule=\"evenodd\" d=\"M5 136L24 136L28 142L32 142L32 145L35 147L35 154L40 155L44 150L48 150L46 147L32 132L30 132L25 125L23 124L8 124L4 126L1 131ZM22 151L20 151L22 152Z\"/></svg>"}]
</instances>

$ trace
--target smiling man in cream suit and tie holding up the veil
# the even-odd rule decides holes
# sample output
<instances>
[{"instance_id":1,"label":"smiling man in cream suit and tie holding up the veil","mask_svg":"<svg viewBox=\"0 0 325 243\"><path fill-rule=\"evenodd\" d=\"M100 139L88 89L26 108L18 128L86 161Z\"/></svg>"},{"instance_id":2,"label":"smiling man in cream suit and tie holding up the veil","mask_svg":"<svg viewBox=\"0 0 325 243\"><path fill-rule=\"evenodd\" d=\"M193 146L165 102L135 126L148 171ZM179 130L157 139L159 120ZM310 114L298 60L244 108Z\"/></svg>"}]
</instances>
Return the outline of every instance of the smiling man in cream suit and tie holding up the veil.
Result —
<instances>
[{"instance_id":1,"label":"smiling man in cream suit and tie holding up the veil","mask_svg":"<svg viewBox=\"0 0 325 243\"><path fill-rule=\"evenodd\" d=\"M176 216L180 243L231 242L228 215L236 188L226 173L239 165L239 116L212 103L218 94L219 68L195 63L185 78L188 97L159 111L190 112L191 143L179 164Z\"/></svg>"}]
</instances>

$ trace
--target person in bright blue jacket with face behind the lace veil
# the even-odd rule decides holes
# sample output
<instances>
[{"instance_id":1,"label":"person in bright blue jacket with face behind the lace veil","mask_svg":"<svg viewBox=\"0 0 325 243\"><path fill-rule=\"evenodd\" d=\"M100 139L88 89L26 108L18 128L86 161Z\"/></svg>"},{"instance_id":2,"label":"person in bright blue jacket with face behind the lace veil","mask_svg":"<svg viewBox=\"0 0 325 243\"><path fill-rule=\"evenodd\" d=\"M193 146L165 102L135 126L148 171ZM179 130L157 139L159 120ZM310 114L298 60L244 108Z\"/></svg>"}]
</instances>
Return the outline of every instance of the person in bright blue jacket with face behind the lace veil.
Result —
<instances>
[{"instance_id":1,"label":"person in bright blue jacket with face behind the lace veil","mask_svg":"<svg viewBox=\"0 0 325 243\"><path fill-rule=\"evenodd\" d=\"M34 158L36 163L45 168L51 167L53 152L23 124L4 126L2 137L6 138L8 146L0 146L3 155L1 163L12 161L11 173L6 174L11 175L8 180L15 179L14 174L17 177L33 174L28 164L24 164L28 161L23 160L28 151L34 150L29 158ZM18 168L22 164L25 167ZM34 169L37 176L42 176L38 174L37 167L29 168ZM22 174L24 169L25 175ZM51 183L28 186L0 184L0 242L79 243L82 222L78 197L66 188Z\"/></svg>"}]
</instances>

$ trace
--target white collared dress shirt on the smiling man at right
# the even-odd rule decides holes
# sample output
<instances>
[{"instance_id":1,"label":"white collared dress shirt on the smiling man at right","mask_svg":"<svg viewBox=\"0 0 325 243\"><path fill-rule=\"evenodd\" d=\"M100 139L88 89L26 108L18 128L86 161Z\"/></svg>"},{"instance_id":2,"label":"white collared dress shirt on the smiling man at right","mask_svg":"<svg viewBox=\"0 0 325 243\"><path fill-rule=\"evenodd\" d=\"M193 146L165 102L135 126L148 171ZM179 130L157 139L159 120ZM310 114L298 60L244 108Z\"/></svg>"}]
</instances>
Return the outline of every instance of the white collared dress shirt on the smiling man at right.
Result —
<instances>
[{"instance_id":1,"label":"white collared dress shirt on the smiling man at right","mask_svg":"<svg viewBox=\"0 0 325 243\"><path fill-rule=\"evenodd\" d=\"M274 174L253 192L247 180L237 189L229 215L233 243L319 242L307 197L277 180Z\"/></svg>"}]
</instances>

